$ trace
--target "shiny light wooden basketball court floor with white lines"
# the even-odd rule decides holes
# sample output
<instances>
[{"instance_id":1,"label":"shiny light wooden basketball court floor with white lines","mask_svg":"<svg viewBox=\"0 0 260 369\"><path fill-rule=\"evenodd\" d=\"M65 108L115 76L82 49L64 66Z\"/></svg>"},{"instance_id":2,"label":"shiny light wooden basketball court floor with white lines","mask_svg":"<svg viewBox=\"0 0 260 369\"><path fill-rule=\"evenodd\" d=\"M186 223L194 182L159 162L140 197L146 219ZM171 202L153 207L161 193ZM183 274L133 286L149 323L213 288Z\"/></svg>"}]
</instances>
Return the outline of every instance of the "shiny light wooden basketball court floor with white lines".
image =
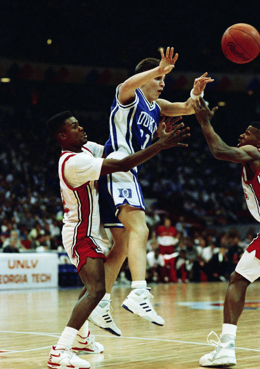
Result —
<instances>
[{"instance_id":1,"label":"shiny light wooden basketball court floor with white lines","mask_svg":"<svg viewBox=\"0 0 260 369\"><path fill-rule=\"evenodd\" d=\"M120 305L129 287L112 289L112 316L121 337L89 324L103 354L81 355L92 369L200 368L200 356L212 351L207 335L221 333L227 282L154 284L152 303L163 327L131 314ZM260 367L260 284L251 284L236 338L236 368ZM47 368L51 345L66 326L80 289L0 292L0 368ZM212 337L216 339L216 337Z\"/></svg>"}]
</instances>

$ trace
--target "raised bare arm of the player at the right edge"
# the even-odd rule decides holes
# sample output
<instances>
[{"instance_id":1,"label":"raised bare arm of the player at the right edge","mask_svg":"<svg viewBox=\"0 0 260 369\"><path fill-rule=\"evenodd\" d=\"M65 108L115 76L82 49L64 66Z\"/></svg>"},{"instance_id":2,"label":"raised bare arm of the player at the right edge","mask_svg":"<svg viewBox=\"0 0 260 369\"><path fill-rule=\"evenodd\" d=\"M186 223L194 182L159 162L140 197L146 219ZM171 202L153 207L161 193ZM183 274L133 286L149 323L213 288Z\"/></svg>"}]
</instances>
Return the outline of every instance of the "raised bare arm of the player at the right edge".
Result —
<instances>
[{"instance_id":1,"label":"raised bare arm of the player at the right edge","mask_svg":"<svg viewBox=\"0 0 260 369\"><path fill-rule=\"evenodd\" d=\"M209 149L216 159L228 160L235 163L249 163L260 159L259 151L256 147L245 145L243 147L232 147L227 145L214 131L210 121L218 109L215 106L210 110L205 101L200 98L200 104L196 101L193 104L195 115L201 125L202 132L207 140Z\"/></svg>"}]
</instances>

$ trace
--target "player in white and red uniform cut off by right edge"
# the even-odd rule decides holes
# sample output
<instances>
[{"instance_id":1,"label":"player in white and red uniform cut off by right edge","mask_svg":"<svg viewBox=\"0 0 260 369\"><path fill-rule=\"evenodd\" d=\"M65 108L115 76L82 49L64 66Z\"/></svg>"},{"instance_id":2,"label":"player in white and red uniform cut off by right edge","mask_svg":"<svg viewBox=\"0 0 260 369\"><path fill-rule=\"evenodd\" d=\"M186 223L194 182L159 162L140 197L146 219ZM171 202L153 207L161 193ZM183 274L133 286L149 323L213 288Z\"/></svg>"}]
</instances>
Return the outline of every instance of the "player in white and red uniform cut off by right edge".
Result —
<instances>
[{"instance_id":1,"label":"player in white and red uniform cut off by right edge","mask_svg":"<svg viewBox=\"0 0 260 369\"><path fill-rule=\"evenodd\" d=\"M246 203L253 217L260 221L260 122L251 123L245 133L240 135L237 148L230 147L215 133L210 124L216 109L217 107L210 111L203 99L200 99L200 104L198 102L194 104L196 117L215 158L242 163L242 186ZM200 358L201 366L236 364L235 337L238 319L245 305L246 289L258 277L260 277L259 233L242 255L235 272L230 275L224 303L222 333L218 342L208 339L209 343L215 344L215 350Z\"/></svg>"}]
</instances>

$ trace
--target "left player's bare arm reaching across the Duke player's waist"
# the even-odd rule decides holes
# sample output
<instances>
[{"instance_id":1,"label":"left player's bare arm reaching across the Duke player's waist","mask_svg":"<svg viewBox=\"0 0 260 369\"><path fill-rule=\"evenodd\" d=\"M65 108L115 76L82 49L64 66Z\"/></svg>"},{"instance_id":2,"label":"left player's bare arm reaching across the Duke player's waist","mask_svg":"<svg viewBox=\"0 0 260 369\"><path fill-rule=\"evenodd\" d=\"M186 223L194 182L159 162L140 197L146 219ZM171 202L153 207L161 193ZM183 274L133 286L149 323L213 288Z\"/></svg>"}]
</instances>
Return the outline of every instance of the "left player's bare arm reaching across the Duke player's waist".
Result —
<instances>
[{"instance_id":1,"label":"left player's bare arm reaching across the Duke player's waist","mask_svg":"<svg viewBox=\"0 0 260 369\"><path fill-rule=\"evenodd\" d=\"M182 146L187 147L187 144L182 144L179 141L181 139L187 138L190 136L188 130L189 127L183 128L184 124L180 123L177 127L170 133L165 132L165 124L163 124L163 129L160 134L160 138L155 144L149 146L146 149L140 150L135 154L131 154L126 156L124 159L104 159L101 167L100 175L105 175L114 172L128 172L128 170L134 168L152 158L158 152L163 149L168 149L173 146Z\"/></svg>"}]
</instances>

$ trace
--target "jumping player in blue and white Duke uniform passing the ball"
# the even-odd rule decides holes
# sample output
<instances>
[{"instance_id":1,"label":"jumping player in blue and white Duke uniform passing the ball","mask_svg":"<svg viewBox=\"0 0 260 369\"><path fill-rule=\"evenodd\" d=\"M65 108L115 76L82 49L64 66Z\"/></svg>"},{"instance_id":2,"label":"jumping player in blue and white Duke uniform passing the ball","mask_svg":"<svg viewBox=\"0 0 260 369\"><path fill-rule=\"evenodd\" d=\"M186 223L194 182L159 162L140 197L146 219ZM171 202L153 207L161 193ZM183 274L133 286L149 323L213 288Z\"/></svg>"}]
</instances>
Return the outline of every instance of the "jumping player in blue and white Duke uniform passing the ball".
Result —
<instances>
[{"instance_id":1,"label":"jumping player in blue and white Duke uniform passing the ball","mask_svg":"<svg viewBox=\"0 0 260 369\"><path fill-rule=\"evenodd\" d=\"M206 84L213 81L207 73L195 79L191 98L184 103L159 99L165 75L174 68L178 54L173 55L173 48L168 47L165 56L161 49L161 56L161 60L148 58L141 61L135 75L117 87L111 107L110 137L105 144L107 158L121 159L149 146L160 132L160 115L194 114L192 103L203 96ZM140 168L135 167L127 173L113 173L100 180L101 214L115 244L124 245L125 240L128 241L125 257L128 256L132 291L122 307L154 324L163 325L163 318L156 314L150 303L153 296L145 281L148 228L137 177Z\"/></svg>"}]
</instances>

